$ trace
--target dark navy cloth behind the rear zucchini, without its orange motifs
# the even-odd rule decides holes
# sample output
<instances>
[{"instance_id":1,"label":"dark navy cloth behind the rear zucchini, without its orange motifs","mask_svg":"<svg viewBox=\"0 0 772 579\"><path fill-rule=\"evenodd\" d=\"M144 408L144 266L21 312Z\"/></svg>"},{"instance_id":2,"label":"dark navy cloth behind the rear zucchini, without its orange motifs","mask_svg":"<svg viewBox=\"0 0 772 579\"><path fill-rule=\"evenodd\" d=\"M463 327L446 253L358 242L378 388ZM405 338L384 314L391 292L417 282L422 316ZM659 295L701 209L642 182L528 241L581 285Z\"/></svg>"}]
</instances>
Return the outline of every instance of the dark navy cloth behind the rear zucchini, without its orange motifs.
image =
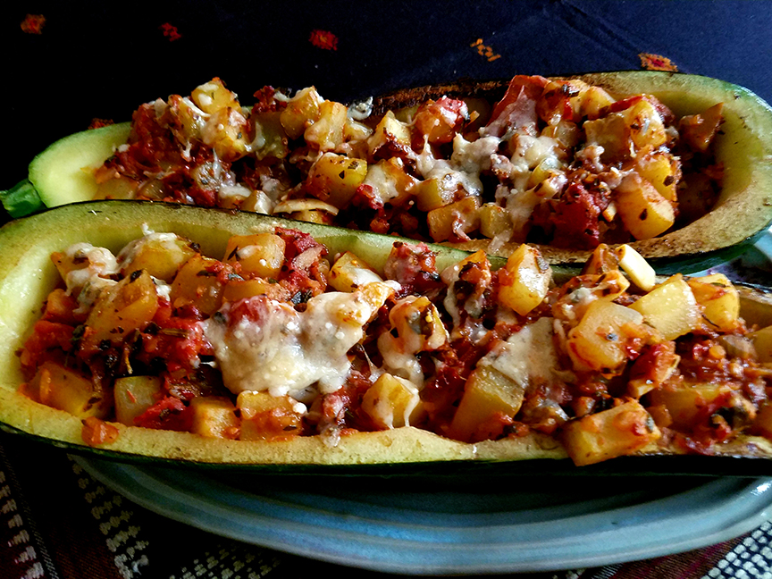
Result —
<instances>
[{"instance_id":1,"label":"dark navy cloth behind the rear zucchini, without its orange motifs","mask_svg":"<svg viewBox=\"0 0 772 579\"><path fill-rule=\"evenodd\" d=\"M18 2L4 10L5 142L0 189L32 156L92 119L189 94L219 76L243 103L266 84L315 85L347 101L395 88L642 68L640 53L772 101L772 4L766 0L587 2ZM46 18L42 34L21 30ZM170 40L161 29L176 27ZM336 50L310 41L323 29ZM499 58L471 45L483 39Z\"/></svg>"}]
</instances>

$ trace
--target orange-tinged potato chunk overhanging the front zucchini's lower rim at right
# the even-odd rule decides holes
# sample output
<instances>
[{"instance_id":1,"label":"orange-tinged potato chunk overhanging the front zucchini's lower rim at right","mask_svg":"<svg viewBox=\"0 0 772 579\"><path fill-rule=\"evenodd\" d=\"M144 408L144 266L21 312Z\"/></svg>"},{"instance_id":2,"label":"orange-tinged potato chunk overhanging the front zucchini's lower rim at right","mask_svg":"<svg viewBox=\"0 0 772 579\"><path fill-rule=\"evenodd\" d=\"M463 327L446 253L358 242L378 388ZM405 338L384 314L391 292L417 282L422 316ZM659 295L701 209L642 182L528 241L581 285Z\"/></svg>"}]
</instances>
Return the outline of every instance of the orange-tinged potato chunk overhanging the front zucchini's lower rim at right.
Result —
<instances>
[{"instance_id":1,"label":"orange-tinged potato chunk overhanging the front zucchini's lower rim at right","mask_svg":"<svg viewBox=\"0 0 772 579\"><path fill-rule=\"evenodd\" d=\"M584 466L632 454L660 436L646 408L630 400L565 424L562 440L575 465Z\"/></svg>"}]
</instances>

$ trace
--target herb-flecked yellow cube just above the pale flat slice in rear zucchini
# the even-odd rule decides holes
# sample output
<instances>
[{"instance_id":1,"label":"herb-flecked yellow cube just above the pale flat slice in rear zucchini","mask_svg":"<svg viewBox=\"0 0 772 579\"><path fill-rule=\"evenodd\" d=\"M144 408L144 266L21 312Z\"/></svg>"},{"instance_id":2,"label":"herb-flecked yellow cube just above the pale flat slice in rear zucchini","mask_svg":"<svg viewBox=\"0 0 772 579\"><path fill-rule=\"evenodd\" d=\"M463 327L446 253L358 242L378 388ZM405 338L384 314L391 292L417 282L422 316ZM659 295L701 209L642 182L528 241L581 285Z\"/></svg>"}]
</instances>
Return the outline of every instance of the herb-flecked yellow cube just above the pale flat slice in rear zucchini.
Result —
<instances>
[{"instance_id":1,"label":"herb-flecked yellow cube just above the pale flat slice in rear zucchini","mask_svg":"<svg viewBox=\"0 0 772 579\"><path fill-rule=\"evenodd\" d=\"M343 208L348 206L366 175L365 159L324 153L308 172L306 190L326 203Z\"/></svg>"}]
</instances>

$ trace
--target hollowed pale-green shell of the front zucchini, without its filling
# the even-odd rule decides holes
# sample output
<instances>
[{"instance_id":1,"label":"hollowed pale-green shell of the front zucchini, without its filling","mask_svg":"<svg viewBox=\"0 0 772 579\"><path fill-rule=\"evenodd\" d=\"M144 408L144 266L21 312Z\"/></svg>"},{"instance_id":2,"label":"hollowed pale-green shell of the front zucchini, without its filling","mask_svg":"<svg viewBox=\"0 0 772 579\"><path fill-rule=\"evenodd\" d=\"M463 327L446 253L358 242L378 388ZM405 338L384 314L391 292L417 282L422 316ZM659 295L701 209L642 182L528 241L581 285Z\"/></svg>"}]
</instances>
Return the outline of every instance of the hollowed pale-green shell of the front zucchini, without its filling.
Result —
<instances>
[{"instance_id":1,"label":"hollowed pale-green shell of the front zucchini, without its filling","mask_svg":"<svg viewBox=\"0 0 772 579\"><path fill-rule=\"evenodd\" d=\"M117 251L140 237L144 226L187 236L200 243L202 253L218 255L224 251L231 235L273 231L276 225L312 234L330 249L331 254L351 250L376 269L382 267L393 242L398 240L264 215L125 201L72 204L6 224L0 230L0 427L77 452L122 460L171 461L177 465L251 466L281 472L298 466L332 467L334 470L342 465L409 468L428 464L433 472L442 472L442 469L457 466L507 463L514 467L519 464L517 461L528 459L525 470L529 465L546 462L566 464L575 472L570 460L553 460L566 458L566 452L558 442L546 436L469 444L410 427L356 432L342 436L337 446L330 447L318 436L288 441L230 441L116 424L120 431L117 441L93 448L82 441L79 418L41 405L18 392L22 377L15 353L38 319L40 305L57 281L58 273L50 259L52 252L80 241ZM438 269L468 255L453 248L432 248L438 252ZM495 267L502 261L494 259L491 264ZM555 270L559 276L559 268ZM742 295L741 315L751 322L772 323L772 297L758 290L743 290ZM675 452L647 448L641 454ZM772 457L772 442L760 437L746 437L722 447L720 453L727 457ZM707 461L710 459L706 458ZM768 461L761 463L772 465ZM292 472L307 470L302 467Z\"/></svg>"}]
</instances>

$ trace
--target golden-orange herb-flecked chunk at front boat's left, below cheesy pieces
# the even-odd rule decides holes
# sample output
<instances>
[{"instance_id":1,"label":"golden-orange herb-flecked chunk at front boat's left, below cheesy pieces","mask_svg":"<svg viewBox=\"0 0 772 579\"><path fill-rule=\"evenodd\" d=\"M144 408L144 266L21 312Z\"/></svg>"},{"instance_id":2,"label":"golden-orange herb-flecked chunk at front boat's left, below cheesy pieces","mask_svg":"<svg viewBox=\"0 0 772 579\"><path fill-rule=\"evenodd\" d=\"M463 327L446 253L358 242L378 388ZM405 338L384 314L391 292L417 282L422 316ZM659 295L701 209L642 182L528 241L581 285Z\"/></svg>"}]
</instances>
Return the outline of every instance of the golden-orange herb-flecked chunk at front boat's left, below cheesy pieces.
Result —
<instances>
[{"instance_id":1,"label":"golden-orange herb-flecked chunk at front boat's left, below cheesy pieces","mask_svg":"<svg viewBox=\"0 0 772 579\"><path fill-rule=\"evenodd\" d=\"M147 272L123 278L103 291L86 319L85 349L98 348L103 340L121 342L146 325L158 309L158 293Z\"/></svg>"}]
</instances>

